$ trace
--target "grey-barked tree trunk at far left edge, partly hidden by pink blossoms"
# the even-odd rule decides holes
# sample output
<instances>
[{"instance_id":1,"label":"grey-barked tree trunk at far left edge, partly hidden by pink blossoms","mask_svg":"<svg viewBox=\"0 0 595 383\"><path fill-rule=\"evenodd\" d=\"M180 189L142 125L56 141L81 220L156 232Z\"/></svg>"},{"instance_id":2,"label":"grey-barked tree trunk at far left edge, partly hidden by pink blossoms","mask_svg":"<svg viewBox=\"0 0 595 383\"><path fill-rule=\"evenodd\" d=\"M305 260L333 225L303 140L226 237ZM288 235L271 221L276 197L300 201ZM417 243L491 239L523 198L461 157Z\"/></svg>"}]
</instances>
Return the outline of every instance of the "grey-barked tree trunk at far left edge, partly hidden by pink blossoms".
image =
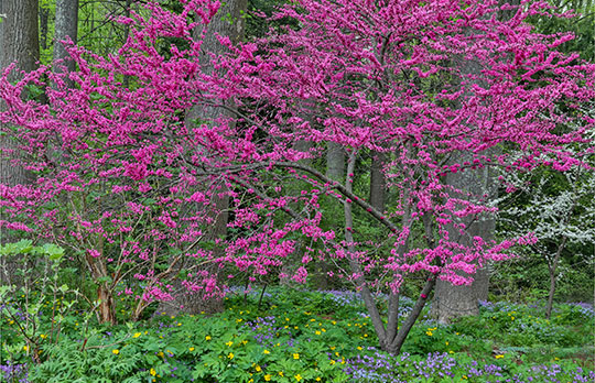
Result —
<instances>
[{"instance_id":1,"label":"grey-barked tree trunk at far left edge, partly hidden by pink blossoms","mask_svg":"<svg viewBox=\"0 0 595 383\"><path fill-rule=\"evenodd\" d=\"M10 80L17 80L19 70L34 70L40 57L37 0L1 0L0 14L0 70L17 62L18 70L13 70ZM0 102L0 109L4 106ZM2 129L4 130L4 129ZM10 135L0 135L0 184L14 186L32 182L32 176L22 166L14 163L18 160L17 147ZM3 215L0 210L0 219ZM0 228L0 243L11 242L9 232ZM0 277L2 284L19 284L14 272L19 266L18 260L0 259Z\"/></svg>"}]
</instances>

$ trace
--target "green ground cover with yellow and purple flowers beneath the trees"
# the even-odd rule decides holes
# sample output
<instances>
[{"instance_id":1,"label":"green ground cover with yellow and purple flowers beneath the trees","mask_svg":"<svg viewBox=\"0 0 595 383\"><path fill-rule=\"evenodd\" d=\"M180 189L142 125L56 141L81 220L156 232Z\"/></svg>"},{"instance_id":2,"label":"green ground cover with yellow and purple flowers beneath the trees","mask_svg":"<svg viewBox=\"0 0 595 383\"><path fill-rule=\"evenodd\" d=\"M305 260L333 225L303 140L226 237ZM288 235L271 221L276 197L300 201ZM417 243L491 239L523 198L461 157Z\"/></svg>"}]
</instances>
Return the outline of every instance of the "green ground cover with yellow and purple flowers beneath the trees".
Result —
<instances>
[{"instance_id":1,"label":"green ground cover with yellow and purple flowers beneath the trees","mask_svg":"<svg viewBox=\"0 0 595 383\"><path fill-rule=\"evenodd\" d=\"M42 320L35 348L2 309L7 382L591 382L591 305L485 303L480 316L424 316L403 353L379 349L360 296L271 288L231 292L224 313L90 326ZM382 298L381 298L382 299ZM410 310L413 302L403 305ZM48 308L51 305L48 306ZM51 310L47 310L48 315ZM4 351L4 352L7 352ZM36 360L37 363L33 363Z\"/></svg>"}]
</instances>

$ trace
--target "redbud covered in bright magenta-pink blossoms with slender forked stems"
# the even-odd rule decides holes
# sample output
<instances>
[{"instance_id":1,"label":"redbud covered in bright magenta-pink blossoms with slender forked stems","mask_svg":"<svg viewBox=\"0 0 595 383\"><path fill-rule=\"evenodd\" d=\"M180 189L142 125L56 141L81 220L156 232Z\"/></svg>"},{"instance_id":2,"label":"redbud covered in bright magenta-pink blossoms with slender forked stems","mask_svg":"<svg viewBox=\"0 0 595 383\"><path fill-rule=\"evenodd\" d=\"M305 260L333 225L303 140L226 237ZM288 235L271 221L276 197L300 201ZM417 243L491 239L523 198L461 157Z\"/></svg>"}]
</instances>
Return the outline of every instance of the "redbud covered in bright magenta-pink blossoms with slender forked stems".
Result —
<instances>
[{"instance_id":1,"label":"redbud covered in bright magenta-pink blossoms with slender forked stems","mask_svg":"<svg viewBox=\"0 0 595 383\"><path fill-rule=\"evenodd\" d=\"M22 152L14 165L37 175L34 185L1 186L9 219L0 223L76 254L98 286L104 321L115 320L117 286L137 298L138 317L172 298L173 278L208 296L238 274L304 282L309 264L326 260L361 293L381 348L398 353L436 278L468 284L486 262L534 241L450 238L448 226L466 236L464 218L495 208L445 185L445 175L564 171L592 153L570 145L593 130L580 106L595 97L594 66L556 51L572 35L538 34L524 22L548 12L544 2L299 0L273 15L298 28L237 45L219 36L227 53L210 55L212 70L201 68L193 31L205 31L219 4L181 3L174 14L149 1L121 19L131 33L117 54L71 46L75 73L40 68L9 84L8 68L0 80L2 129ZM23 100L44 76L56 84L48 103ZM190 123L191 107L221 114ZM315 165L328 143L348 154L343 183ZM389 158L383 172L398 203L388 211L353 187L368 151ZM221 196L228 234L207 240ZM322 196L343 205L343 232L322 229L333 219ZM391 250L361 247L354 215L374 219ZM298 253L294 271L281 269ZM426 282L400 320L399 292L412 275ZM375 289L389 294L387 320Z\"/></svg>"}]
</instances>

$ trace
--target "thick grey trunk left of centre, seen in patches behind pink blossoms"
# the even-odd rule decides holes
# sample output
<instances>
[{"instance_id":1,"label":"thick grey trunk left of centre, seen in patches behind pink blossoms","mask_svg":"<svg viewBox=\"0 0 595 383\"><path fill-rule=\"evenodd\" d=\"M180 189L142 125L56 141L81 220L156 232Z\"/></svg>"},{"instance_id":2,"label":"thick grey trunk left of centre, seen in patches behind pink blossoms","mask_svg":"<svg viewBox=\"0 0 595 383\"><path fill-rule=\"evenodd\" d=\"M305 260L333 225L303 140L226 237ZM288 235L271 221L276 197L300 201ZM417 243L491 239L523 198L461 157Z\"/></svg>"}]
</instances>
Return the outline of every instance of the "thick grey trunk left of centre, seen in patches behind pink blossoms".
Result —
<instances>
[{"instance_id":1,"label":"thick grey trunk left of centre, seen in patches behind pink blossoms","mask_svg":"<svg viewBox=\"0 0 595 383\"><path fill-rule=\"evenodd\" d=\"M201 56L201 66L204 73L210 73L213 64L210 63L210 55L221 54L226 52L218 40L216 34L221 36L228 36L231 42L239 42L244 37L245 21L244 14L247 11L247 0L231 0L221 4L221 8L214 17L213 21L207 26L207 32L202 44L203 55ZM195 30L195 39L201 39L202 29ZM234 108L232 105L227 107ZM213 106L196 105L186 113L186 124L192 127L196 122L214 121L220 117L230 117L230 112ZM219 185L220 193L225 193L225 186ZM214 216L214 223L210 228L207 240L215 240L227 233L227 222L229 208L229 197L219 196L213 201L217 215ZM180 270L184 267L184 264L180 265ZM217 270L212 270L212 273L218 273ZM160 305L159 310L169 315L175 315L181 311L187 314L196 314L201 311L217 313L223 310L223 300L218 297L205 298L201 294L190 295L185 288L181 285L181 281L174 281L172 284L176 289L173 294L174 300L163 303Z\"/></svg>"}]
</instances>

